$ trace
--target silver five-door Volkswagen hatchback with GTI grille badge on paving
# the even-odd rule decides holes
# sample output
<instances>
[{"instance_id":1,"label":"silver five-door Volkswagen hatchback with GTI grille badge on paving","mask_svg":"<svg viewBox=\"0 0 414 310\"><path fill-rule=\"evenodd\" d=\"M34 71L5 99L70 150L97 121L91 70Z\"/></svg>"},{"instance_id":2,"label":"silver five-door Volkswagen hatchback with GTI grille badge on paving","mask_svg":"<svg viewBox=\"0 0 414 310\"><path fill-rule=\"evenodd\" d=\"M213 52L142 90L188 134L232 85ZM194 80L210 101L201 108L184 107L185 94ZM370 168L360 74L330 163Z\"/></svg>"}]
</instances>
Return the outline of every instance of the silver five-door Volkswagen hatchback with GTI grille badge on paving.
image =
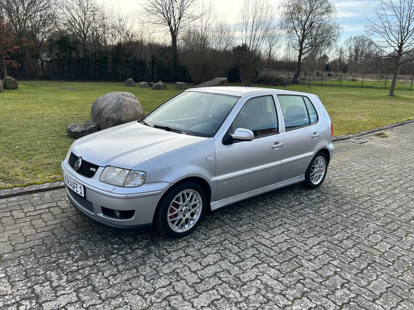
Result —
<instances>
[{"instance_id":1,"label":"silver five-door Volkswagen hatchback with GTI grille badge on paving","mask_svg":"<svg viewBox=\"0 0 414 310\"><path fill-rule=\"evenodd\" d=\"M317 188L331 141L316 95L193 88L136 122L76 140L62 171L70 202L89 219L180 238L206 210L294 183Z\"/></svg>"}]
</instances>

